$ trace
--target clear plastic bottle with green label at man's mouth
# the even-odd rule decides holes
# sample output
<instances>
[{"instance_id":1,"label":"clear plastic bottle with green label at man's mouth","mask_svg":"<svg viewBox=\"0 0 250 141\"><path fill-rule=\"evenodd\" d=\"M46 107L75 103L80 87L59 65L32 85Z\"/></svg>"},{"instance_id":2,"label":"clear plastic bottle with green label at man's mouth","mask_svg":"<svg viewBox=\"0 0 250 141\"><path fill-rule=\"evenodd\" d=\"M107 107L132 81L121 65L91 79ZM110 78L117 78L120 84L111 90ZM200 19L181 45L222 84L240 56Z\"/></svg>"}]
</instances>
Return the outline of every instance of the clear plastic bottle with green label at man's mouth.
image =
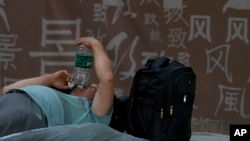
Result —
<instances>
[{"instance_id":1,"label":"clear plastic bottle with green label at man's mouth","mask_svg":"<svg viewBox=\"0 0 250 141\"><path fill-rule=\"evenodd\" d=\"M93 64L92 50L84 45L77 46L74 64L74 84L79 88L87 86Z\"/></svg>"}]
</instances>

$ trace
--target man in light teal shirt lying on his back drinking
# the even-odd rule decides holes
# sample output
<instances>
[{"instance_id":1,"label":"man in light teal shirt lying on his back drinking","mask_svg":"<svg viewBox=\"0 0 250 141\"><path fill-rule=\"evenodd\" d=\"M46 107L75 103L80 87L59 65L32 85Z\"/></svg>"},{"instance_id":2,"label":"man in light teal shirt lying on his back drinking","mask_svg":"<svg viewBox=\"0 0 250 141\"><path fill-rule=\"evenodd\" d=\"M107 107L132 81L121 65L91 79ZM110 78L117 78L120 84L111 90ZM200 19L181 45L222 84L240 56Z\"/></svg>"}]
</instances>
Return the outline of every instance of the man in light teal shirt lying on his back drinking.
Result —
<instances>
[{"instance_id":1,"label":"man in light teal shirt lying on his back drinking","mask_svg":"<svg viewBox=\"0 0 250 141\"><path fill-rule=\"evenodd\" d=\"M92 37L76 40L92 49L99 84L70 88L66 70L17 81L3 87L0 97L0 137L27 130L100 123L109 125L114 97L114 75L101 42ZM72 89L71 94L60 90ZM80 132L79 132L80 133ZM92 131L95 134L95 131Z\"/></svg>"}]
</instances>

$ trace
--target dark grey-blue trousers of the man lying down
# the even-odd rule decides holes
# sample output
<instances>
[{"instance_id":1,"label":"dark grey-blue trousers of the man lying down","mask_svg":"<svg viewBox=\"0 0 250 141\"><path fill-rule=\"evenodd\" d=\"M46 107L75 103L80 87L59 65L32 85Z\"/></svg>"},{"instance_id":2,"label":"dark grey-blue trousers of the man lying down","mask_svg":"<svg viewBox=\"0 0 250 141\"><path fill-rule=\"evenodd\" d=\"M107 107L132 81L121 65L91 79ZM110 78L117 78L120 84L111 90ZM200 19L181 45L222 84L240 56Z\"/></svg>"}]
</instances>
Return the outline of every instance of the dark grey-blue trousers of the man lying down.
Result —
<instances>
[{"instance_id":1,"label":"dark grey-blue trousers of the man lying down","mask_svg":"<svg viewBox=\"0 0 250 141\"><path fill-rule=\"evenodd\" d=\"M0 137L26 130L47 127L46 116L24 92L0 96Z\"/></svg>"}]
</instances>

